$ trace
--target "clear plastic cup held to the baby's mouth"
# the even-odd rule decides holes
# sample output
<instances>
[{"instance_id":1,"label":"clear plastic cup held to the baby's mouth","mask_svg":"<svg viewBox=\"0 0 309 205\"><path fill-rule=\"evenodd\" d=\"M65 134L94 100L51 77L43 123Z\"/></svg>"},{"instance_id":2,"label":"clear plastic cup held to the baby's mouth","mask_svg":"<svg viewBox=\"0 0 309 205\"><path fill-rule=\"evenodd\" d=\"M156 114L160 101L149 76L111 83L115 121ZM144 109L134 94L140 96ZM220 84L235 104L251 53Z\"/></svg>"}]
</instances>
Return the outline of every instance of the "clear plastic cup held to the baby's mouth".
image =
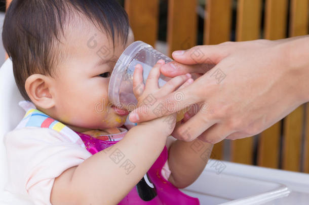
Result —
<instances>
[{"instance_id":1,"label":"clear plastic cup held to the baby's mouth","mask_svg":"<svg viewBox=\"0 0 309 205\"><path fill-rule=\"evenodd\" d=\"M135 109L137 104L133 94L133 72L135 66L137 64L143 66L143 81L145 84L150 70L160 59L165 60L166 63L173 61L140 40L128 46L118 59L110 76L108 97L111 103L129 111ZM161 74L158 81L159 87L164 86L170 79L170 77Z\"/></svg>"}]
</instances>

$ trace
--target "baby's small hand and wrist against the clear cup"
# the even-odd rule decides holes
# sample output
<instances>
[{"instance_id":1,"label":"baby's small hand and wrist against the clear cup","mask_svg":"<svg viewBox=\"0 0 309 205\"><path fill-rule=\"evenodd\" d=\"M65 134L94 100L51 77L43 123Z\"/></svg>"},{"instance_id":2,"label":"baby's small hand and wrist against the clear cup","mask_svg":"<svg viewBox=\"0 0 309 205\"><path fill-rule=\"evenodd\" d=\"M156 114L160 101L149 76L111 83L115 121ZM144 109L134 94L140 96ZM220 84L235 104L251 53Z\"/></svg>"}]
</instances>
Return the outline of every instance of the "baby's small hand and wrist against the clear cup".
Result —
<instances>
[{"instance_id":1,"label":"baby's small hand and wrist against the clear cup","mask_svg":"<svg viewBox=\"0 0 309 205\"><path fill-rule=\"evenodd\" d=\"M183 89L193 83L194 80L191 78L191 75L187 73L170 79L162 88L159 88L158 79L161 74L160 67L164 64L164 60L159 60L157 64L153 66L146 79L146 85L143 84L142 66L140 64L135 66L133 74L133 93L137 99L137 107L140 109L146 109L147 112L155 113L171 112L168 110L167 104L160 104L157 107L153 107L153 103L155 103L158 98L164 97L175 90ZM147 125L150 123L151 126L168 136L175 128L176 112L171 112L170 115L146 121L142 124Z\"/></svg>"}]
</instances>

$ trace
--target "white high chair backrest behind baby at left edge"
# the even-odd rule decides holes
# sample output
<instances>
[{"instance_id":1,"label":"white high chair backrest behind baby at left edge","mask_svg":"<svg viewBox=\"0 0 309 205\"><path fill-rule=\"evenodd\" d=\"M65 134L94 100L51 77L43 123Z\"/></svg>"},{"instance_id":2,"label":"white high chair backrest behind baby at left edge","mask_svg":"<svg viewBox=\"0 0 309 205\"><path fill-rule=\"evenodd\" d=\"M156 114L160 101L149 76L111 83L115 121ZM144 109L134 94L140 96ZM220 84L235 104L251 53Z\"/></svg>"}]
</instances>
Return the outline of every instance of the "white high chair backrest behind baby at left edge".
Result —
<instances>
[{"instance_id":1,"label":"white high chair backrest behind baby at left edge","mask_svg":"<svg viewBox=\"0 0 309 205\"><path fill-rule=\"evenodd\" d=\"M7 183L7 159L3 138L13 130L22 119L25 111L18 106L24 100L19 93L13 75L11 59L7 59L0 68L0 204L32 204L20 199L4 190ZM19 202L18 202L19 201Z\"/></svg>"}]
</instances>

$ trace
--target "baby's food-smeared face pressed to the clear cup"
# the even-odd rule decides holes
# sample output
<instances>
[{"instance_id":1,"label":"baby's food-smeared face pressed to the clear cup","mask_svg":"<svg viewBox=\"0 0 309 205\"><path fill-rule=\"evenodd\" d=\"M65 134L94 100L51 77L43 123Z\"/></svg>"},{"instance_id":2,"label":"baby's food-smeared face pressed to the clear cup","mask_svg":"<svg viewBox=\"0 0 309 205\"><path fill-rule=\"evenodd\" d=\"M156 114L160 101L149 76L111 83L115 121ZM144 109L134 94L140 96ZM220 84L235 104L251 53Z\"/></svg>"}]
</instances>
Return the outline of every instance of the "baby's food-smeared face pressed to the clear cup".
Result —
<instances>
[{"instance_id":1,"label":"baby's food-smeared face pressed to the clear cup","mask_svg":"<svg viewBox=\"0 0 309 205\"><path fill-rule=\"evenodd\" d=\"M120 127L128 113L114 109L108 99L108 84L118 58L134 41L133 33L130 29L126 46L117 41L115 33L113 50L112 39L95 26L80 27L71 28L65 39L68 57L57 68L55 114L79 132Z\"/></svg>"}]
</instances>

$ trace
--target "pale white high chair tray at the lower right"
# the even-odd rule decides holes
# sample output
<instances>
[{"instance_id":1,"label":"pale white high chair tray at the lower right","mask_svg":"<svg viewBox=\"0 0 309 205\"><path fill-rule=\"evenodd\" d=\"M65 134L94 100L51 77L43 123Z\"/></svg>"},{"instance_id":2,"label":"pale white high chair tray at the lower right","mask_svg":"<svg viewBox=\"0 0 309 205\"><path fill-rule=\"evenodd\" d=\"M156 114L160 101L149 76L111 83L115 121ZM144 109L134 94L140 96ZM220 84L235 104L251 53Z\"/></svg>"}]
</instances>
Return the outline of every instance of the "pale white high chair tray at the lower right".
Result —
<instances>
[{"instance_id":1,"label":"pale white high chair tray at the lower right","mask_svg":"<svg viewBox=\"0 0 309 205\"><path fill-rule=\"evenodd\" d=\"M309 175L211 159L182 191L201 205L309 204Z\"/></svg>"}]
</instances>

